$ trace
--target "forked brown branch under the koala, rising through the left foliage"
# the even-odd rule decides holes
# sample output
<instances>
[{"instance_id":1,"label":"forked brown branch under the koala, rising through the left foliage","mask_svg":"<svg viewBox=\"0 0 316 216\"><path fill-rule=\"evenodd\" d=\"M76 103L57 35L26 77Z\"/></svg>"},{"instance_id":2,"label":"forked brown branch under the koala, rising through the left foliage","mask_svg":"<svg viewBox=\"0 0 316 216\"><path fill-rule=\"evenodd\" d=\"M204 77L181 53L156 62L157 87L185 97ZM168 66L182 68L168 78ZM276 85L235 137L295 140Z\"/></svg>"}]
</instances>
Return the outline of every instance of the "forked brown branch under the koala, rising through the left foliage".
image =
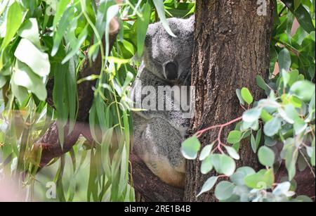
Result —
<instances>
[{"instance_id":1,"label":"forked brown branch under the koala, rising through the left foliage","mask_svg":"<svg viewBox=\"0 0 316 216\"><path fill-rule=\"evenodd\" d=\"M117 34L119 33L119 22L114 18L110 23L110 50L115 42ZM104 42L104 40L103 40ZM98 75L101 70L102 57L99 54L96 62L91 66L88 59L79 72L79 79L88 77L90 75ZM44 136L41 136L39 141L35 144L36 147L42 146L42 157L40 166L46 166L53 158L60 157L61 155L70 151L72 146L76 144L79 136L82 134L88 140L91 140L90 129L88 125L88 113L93 104L93 87L96 81L86 81L78 84L78 99L79 110L77 115L77 122L74 130L69 135L65 136L63 148L61 148L58 140L58 127L57 123L53 122L51 127L47 130ZM47 102L53 106L53 80L50 80L46 86L48 91ZM65 127L65 134L68 134L68 127ZM143 163L137 155L131 153L130 160L132 164L133 186L140 195L145 198L145 201L182 201L183 189L176 189L172 186L164 184L158 177L156 177Z\"/></svg>"}]
</instances>

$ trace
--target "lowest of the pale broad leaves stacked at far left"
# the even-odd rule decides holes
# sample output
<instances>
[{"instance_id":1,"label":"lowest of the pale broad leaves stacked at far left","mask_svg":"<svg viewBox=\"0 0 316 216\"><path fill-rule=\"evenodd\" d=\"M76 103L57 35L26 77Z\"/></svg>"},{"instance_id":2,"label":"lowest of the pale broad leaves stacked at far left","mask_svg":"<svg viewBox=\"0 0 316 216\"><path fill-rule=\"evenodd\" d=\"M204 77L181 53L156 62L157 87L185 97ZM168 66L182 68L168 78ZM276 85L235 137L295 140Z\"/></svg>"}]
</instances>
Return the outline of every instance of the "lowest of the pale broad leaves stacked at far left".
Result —
<instances>
[{"instance_id":1,"label":"lowest of the pale broad leaves stacked at far left","mask_svg":"<svg viewBox=\"0 0 316 216\"><path fill-rule=\"evenodd\" d=\"M29 91L32 91L39 100L46 100L47 91L43 79L32 72L24 63L16 61L12 80L18 86L25 87Z\"/></svg>"}]
</instances>

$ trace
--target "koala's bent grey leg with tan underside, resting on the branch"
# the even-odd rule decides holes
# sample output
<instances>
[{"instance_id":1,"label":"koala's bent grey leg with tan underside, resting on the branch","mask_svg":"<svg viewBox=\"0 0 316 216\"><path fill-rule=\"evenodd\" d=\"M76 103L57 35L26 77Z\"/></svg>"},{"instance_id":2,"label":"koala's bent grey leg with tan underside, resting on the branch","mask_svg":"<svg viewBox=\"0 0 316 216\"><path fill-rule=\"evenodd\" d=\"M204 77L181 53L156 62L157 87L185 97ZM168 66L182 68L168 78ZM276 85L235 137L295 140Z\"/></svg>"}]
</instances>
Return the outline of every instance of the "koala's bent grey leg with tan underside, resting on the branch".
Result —
<instances>
[{"instance_id":1,"label":"koala's bent grey leg with tan underside, resting on the branch","mask_svg":"<svg viewBox=\"0 0 316 216\"><path fill-rule=\"evenodd\" d=\"M161 118L134 116L134 151L163 182L184 187L185 159L180 154L179 132Z\"/></svg>"}]
</instances>

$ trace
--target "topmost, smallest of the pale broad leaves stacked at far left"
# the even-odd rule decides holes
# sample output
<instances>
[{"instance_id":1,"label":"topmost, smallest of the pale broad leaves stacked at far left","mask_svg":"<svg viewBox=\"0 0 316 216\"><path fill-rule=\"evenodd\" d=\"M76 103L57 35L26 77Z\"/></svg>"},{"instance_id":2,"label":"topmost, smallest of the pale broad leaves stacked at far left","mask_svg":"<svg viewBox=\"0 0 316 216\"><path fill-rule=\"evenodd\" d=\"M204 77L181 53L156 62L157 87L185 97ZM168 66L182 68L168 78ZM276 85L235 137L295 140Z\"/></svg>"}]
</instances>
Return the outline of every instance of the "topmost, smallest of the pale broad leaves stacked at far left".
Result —
<instances>
[{"instance_id":1,"label":"topmost, smallest of the pale broad leaves stacked at far left","mask_svg":"<svg viewBox=\"0 0 316 216\"><path fill-rule=\"evenodd\" d=\"M37 25L36 18L29 18L26 20L18 30L18 34L20 37L28 39L38 48L41 47L39 42L39 25Z\"/></svg>"}]
</instances>

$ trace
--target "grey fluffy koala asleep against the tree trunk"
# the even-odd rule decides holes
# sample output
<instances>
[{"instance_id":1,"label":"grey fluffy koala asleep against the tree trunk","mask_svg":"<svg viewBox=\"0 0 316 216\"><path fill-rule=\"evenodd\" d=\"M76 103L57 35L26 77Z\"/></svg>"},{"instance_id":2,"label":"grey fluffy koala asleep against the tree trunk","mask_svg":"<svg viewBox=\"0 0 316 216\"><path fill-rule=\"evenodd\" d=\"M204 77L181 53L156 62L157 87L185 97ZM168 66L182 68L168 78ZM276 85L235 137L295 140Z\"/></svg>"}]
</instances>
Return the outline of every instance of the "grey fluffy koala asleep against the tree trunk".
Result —
<instances>
[{"instance_id":1,"label":"grey fluffy koala asleep against the tree trunk","mask_svg":"<svg viewBox=\"0 0 316 216\"><path fill-rule=\"evenodd\" d=\"M190 100L190 90L187 88L184 93L175 90L171 95L161 93L162 87L190 87L195 18L169 18L168 23L176 37L171 37L162 23L148 27L142 63L131 88L133 101L146 100L153 108L133 112L133 151L163 182L184 187L185 158L180 145L185 140L190 118L183 117L184 110L176 105L180 103L178 94L181 100ZM158 94L147 95L147 90ZM157 108L161 101L169 109Z\"/></svg>"}]
</instances>

